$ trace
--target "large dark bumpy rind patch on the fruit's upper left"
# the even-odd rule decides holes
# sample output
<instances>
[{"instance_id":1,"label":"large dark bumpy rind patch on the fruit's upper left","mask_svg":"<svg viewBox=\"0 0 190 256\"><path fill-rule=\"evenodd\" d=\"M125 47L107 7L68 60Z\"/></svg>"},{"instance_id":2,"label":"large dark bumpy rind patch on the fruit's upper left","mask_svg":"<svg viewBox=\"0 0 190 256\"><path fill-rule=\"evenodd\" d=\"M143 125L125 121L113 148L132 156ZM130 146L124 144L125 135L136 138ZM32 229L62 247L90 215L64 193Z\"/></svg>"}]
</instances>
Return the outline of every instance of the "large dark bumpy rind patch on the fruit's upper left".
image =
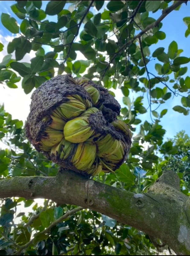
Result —
<instances>
[{"instance_id":1,"label":"large dark bumpy rind patch on the fruit's upper left","mask_svg":"<svg viewBox=\"0 0 190 256\"><path fill-rule=\"evenodd\" d=\"M55 76L41 84L32 93L30 113L25 128L27 137L38 151L40 151L39 143L36 142L40 141L40 133L44 130L44 125L47 125L42 118L49 115L61 103L66 102L68 100L67 95L74 94L92 102L89 94L75 83L71 75Z\"/></svg>"}]
</instances>

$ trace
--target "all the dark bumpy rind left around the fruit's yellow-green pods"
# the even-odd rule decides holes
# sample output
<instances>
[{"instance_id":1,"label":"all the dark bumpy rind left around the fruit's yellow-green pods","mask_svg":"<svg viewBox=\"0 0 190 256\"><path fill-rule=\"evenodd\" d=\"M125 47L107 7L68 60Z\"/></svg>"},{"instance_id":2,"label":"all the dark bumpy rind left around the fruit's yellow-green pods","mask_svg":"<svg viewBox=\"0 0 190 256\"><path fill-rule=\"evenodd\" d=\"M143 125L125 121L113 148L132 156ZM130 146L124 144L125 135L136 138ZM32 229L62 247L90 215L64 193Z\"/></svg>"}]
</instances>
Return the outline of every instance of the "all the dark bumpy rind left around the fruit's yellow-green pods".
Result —
<instances>
[{"instance_id":1,"label":"all the dark bumpy rind left around the fruit's yellow-green pods","mask_svg":"<svg viewBox=\"0 0 190 256\"><path fill-rule=\"evenodd\" d=\"M91 84L100 93L99 102L94 106L87 91L82 87L82 84L79 85L77 81L78 80L75 81L71 75L59 75L46 81L33 92L30 113L25 125L26 135L36 150L42 152L49 160L59 164L62 169L71 169L75 172L89 176L84 171L76 169L72 164L71 159L74 152L71 152L70 156L63 161L62 159L59 159L59 156L53 154L50 155L49 152L40 149L41 134L44 133L46 126L51 123L51 118L48 119L49 121L44 121L43 118L46 118L47 116L49 117L51 111L56 109L60 104L68 101L66 96L80 95L83 99L88 99L93 107L101 109L99 112L91 114L88 118L89 125L95 130L96 134L101 134L101 136L111 134L113 138L121 140L125 144L124 159L113 167L114 171L125 161L131 146L130 137L125 137L122 132L116 131L111 124L111 122L116 120L117 116L120 114L120 104L104 87L95 84L91 80L87 82L85 81L85 83Z\"/></svg>"}]
</instances>

